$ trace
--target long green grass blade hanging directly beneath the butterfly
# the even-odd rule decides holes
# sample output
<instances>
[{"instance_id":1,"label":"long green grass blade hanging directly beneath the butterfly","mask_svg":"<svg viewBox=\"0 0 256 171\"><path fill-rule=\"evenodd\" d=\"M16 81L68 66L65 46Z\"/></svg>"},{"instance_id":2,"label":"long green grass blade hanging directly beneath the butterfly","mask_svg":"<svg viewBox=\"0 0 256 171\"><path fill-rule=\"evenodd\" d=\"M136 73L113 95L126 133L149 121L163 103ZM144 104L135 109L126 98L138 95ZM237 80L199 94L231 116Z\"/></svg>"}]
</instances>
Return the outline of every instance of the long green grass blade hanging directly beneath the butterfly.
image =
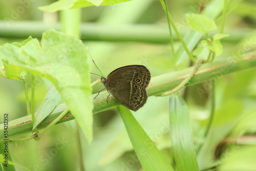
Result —
<instances>
[{"instance_id":1,"label":"long green grass blade hanging directly beneath the butterfly","mask_svg":"<svg viewBox=\"0 0 256 171\"><path fill-rule=\"evenodd\" d=\"M148 137L130 110L124 106L117 107L134 151L145 171L173 170L172 166Z\"/></svg>"}]
</instances>

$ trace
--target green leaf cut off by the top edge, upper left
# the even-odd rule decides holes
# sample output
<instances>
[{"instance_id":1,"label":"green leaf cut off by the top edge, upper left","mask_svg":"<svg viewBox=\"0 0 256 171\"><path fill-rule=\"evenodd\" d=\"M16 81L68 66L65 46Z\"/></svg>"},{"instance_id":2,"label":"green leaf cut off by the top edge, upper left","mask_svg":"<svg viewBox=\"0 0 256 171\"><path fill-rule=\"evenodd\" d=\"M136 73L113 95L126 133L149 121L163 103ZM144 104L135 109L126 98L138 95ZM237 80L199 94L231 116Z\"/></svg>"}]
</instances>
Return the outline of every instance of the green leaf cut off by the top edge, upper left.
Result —
<instances>
[{"instance_id":1,"label":"green leaf cut off by the top edge, upper left","mask_svg":"<svg viewBox=\"0 0 256 171\"><path fill-rule=\"evenodd\" d=\"M73 8L82 8L88 6L112 5L130 0L59 0L47 6L38 7L41 11L55 12L59 10L68 10Z\"/></svg>"}]
</instances>

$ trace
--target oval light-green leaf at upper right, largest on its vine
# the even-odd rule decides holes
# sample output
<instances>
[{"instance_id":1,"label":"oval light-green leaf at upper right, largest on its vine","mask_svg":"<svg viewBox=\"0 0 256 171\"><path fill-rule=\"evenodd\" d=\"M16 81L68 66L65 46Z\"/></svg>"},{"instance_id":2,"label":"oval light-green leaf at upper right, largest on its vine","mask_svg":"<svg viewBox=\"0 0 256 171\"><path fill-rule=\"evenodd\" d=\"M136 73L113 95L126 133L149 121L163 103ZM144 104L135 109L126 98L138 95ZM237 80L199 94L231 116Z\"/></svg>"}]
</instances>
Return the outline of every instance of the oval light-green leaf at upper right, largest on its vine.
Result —
<instances>
[{"instance_id":1,"label":"oval light-green leaf at upper right, largest on its vine","mask_svg":"<svg viewBox=\"0 0 256 171\"><path fill-rule=\"evenodd\" d=\"M200 33L207 33L217 29L214 20L204 15L187 13L185 16L189 26Z\"/></svg>"}]
</instances>

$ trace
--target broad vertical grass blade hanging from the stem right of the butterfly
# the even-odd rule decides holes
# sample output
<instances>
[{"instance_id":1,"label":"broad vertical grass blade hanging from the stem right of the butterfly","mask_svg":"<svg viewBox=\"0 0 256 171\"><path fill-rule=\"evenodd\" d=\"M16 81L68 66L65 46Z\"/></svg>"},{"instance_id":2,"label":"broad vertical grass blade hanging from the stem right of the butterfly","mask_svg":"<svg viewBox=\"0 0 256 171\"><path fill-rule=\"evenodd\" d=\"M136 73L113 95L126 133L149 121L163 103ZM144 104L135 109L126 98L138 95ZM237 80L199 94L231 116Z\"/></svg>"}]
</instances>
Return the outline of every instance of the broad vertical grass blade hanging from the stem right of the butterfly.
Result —
<instances>
[{"instance_id":1,"label":"broad vertical grass blade hanging from the stem right of the butterfly","mask_svg":"<svg viewBox=\"0 0 256 171\"><path fill-rule=\"evenodd\" d=\"M177 170L199 170L188 106L180 94L169 96L169 114Z\"/></svg>"}]
</instances>

